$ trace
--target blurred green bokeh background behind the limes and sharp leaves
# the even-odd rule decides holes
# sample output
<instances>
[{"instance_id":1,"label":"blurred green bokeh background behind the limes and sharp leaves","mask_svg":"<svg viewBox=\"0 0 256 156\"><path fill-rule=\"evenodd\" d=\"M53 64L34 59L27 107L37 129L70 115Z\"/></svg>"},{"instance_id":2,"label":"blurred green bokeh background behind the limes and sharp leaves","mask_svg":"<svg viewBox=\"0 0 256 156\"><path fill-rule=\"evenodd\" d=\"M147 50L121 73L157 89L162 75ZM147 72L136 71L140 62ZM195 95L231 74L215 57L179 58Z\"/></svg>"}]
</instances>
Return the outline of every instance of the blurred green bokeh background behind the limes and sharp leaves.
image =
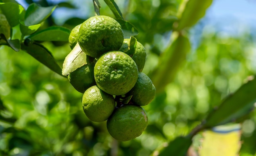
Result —
<instances>
[{"instance_id":1,"label":"blurred green bokeh background behind the limes and sharp leaves","mask_svg":"<svg viewBox=\"0 0 256 156\"><path fill-rule=\"evenodd\" d=\"M26 8L33 1L20 2ZM50 6L62 1L34 2ZM153 77L152 71L161 65L159 56L171 43L172 25L181 0L116 2L124 19L139 31L136 38L147 51L143 72ZM115 18L106 4L100 3L101 15ZM91 0L69 0L65 7L54 11L43 27L62 25L72 29L90 16L94 16ZM23 51L15 52L1 46L0 155L148 156L164 143L188 134L223 98L256 73L254 27L243 25L243 29L237 27L239 33L229 33L210 17L211 12L197 25L186 29L191 50L185 62L179 65L173 80L158 92L155 100L143 107L149 119L146 131L127 142L113 140L106 122L94 123L85 116L81 107L82 94L67 78ZM14 29L16 35L19 34ZM42 44L62 67L65 56L71 51L68 43ZM242 123L240 156L254 156L256 152L255 117L252 112ZM193 144L195 149L197 143Z\"/></svg>"}]
</instances>

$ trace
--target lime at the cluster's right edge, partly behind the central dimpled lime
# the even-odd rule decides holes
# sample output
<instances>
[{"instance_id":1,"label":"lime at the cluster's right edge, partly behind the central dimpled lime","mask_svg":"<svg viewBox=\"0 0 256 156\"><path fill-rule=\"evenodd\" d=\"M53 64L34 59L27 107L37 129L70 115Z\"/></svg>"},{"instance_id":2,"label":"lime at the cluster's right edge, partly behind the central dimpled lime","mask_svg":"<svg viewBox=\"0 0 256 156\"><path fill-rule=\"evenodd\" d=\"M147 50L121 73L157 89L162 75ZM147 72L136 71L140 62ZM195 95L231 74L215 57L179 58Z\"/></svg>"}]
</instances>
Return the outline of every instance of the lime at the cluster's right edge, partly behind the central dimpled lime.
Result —
<instances>
[{"instance_id":1,"label":"lime at the cluster's right edge, partly behind the central dimpled lime","mask_svg":"<svg viewBox=\"0 0 256 156\"><path fill-rule=\"evenodd\" d=\"M137 82L127 93L127 96L132 95L131 100L136 105L145 106L155 98L155 92L155 86L150 78L146 74L139 72Z\"/></svg>"}]
</instances>

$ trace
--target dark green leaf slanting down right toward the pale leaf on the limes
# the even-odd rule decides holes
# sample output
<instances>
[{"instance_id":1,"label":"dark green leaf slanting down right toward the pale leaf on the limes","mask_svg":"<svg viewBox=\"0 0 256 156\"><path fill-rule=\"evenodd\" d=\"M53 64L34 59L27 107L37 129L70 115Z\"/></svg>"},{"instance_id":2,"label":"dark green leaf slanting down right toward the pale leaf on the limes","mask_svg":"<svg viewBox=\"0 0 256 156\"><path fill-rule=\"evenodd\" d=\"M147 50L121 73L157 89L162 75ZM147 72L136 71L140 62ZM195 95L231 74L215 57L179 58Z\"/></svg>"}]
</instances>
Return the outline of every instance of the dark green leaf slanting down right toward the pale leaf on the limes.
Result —
<instances>
[{"instance_id":1,"label":"dark green leaf slanting down right toward the pale leaf on the limes","mask_svg":"<svg viewBox=\"0 0 256 156\"><path fill-rule=\"evenodd\" d=\"M26 39L26 40L29 40L29 39ZM26 44L26 45L22 43L21 49L29 53L36 60L43 63L52 71L61 75L61 67L58 66L52 54L43 45L35 42L31 44Z\"/></svg>"}]
</instances>

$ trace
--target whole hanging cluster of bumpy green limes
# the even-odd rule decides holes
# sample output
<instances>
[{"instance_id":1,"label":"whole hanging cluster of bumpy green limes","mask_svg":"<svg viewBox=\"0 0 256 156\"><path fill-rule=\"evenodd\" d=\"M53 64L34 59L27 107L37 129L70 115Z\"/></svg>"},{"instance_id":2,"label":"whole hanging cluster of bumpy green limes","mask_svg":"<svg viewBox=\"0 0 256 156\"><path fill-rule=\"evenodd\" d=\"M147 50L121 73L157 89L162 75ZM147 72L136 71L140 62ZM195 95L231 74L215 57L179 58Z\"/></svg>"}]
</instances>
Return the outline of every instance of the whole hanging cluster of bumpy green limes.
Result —
<instances>
[{"instance_id":1,"label":"whole hanging cluster of bumpy green limes","mask_svg":"<svg viewBox=\"0 0 256 156\"><path fill-rule=\"evenodd\" d=\"M144 46L136 41L131 54L130 39L121 25L108 16L94 16L72 29L70 47L77 43L92 61L68 75L72 86L83 93L85 115L94 122L107 120L110 135L121 141L140 136L148 125L141 106L155 97L155 86L142 73Z\"/></svg>"}]
</instances>

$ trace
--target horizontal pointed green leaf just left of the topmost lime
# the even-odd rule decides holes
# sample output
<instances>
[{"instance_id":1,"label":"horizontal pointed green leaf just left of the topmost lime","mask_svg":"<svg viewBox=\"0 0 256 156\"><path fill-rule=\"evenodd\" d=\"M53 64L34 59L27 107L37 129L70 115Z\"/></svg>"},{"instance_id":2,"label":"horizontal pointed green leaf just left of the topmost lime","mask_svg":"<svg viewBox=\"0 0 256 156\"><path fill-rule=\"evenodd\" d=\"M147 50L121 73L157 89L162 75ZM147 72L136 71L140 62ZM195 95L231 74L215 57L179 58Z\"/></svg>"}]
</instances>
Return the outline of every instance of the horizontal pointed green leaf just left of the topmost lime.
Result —
<instances>
[{"instance_id":1,"label":"horizontal pointed green leaf just left of the topmost lime","mask_svg":"<svg viewBox=\"0 0 256 156\"><path fill-rule=\"evenodd\" d=\"M37 41L68 41L69 36L70 29L61 26L52 26L32 34L29 38Z\"/></svg>"}]
</instances>

